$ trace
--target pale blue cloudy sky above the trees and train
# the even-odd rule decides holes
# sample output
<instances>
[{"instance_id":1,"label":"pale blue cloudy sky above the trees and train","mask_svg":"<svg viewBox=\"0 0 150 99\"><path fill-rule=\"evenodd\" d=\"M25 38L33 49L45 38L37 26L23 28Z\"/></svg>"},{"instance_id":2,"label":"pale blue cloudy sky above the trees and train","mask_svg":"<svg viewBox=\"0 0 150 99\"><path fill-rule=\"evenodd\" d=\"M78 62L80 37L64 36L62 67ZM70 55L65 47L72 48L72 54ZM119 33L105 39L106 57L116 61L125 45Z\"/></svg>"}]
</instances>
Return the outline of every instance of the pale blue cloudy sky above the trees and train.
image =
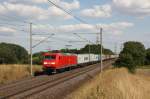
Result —
<instances>
[{"instance_id":1,"label":"pale blue cloudy sky above the trees and train","mask_svg":"<svg viewBox=\"0 0 150 99\"><path fill-rule=\"evenodd\" d=\"M33 46L54 33L34 47L33 52L67 45L79 49L88 43L85 39L96 43L100 28L103 28L103 46L112 51L117 48L119 52L126 41L140 41L150 47L150 0L50 1L83 22L48 0L0 0L0 42L19 44L29 51L29 23L33 23Z\"/></svg>"}]
</instances>

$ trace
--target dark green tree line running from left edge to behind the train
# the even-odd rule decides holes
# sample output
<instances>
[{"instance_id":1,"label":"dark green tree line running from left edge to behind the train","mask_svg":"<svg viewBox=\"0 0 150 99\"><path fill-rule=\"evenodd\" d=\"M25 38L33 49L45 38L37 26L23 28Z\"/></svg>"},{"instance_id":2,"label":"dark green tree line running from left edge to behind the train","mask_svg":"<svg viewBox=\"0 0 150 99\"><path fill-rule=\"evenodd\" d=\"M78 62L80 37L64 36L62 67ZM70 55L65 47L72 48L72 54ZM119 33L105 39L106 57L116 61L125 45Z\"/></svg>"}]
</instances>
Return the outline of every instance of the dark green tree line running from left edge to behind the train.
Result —
<instances>
[{"instance_id":1,"label":"dark green tree line running from left edge to behind the train","mask_svg":"<svg viewBox=\"0 0 150 99\"><path fill-rule=\"evenodd\" d=\"M81 54L81 53L90 53L93 54L100 54L101 45L91 44L85 45L81 49L61 49L61 50L53 50L49 51L49 53L53 52L61 52L61 53L74 53L74 54ZM104 54L113 54L110 49L103 48ZM44 52L37 52L33 54L33 64L42 64L43 60L43 53ZM30 61L29 54L25 48L16 44L10 43L0 43L0 64L28 64Z\"/></svg>"}]
</instances>

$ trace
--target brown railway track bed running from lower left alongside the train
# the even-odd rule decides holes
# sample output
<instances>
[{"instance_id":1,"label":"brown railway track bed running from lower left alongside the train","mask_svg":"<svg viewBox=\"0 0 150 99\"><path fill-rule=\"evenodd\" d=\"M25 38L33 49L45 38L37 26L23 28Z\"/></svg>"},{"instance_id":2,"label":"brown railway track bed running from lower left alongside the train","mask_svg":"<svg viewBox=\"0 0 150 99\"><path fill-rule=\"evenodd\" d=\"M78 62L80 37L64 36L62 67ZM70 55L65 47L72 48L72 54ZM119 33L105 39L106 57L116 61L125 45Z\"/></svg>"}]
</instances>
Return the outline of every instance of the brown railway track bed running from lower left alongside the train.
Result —
<instances>
[{"instance_id":1,"label":"brown railway track bed running from lower left alongside the train","mask_svg":"<svg viewBox=\"0 0 150 99\"><path fill-rule=\"evenodd\" d=\"M105 62L104 66L110 63L112 63L112 61L110 61L109 63ZM41 93L42 91L52 89L53 87L61 83L93 71L97 68L98 64L94 64L56 75L40 76L9 84L0 88L0 99L26 99L28 97Z\"/></svg>"}]
</instances>

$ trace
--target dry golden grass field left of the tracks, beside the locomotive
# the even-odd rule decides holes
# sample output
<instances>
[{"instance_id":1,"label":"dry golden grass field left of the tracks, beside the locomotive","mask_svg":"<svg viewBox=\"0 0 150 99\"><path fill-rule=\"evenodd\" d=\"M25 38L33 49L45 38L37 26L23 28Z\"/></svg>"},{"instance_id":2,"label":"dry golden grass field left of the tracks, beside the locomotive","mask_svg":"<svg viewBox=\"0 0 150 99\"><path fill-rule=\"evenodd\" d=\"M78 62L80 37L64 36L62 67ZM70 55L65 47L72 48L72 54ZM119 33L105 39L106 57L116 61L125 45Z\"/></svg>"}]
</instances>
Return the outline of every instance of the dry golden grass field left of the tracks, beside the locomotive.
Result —
<instances>
[{"instance_id":1,"label":"dry golden grass field left of the tracks, beside the locomotive","mask_svg":"<svg viewBox=\"0 0 150 99\"><path fill-rule=\"evenodd\" d=\"M41 71L41 66L33 66L33 71ZM0 84L30 76L29 65L0 65Z\"/></svg>"}]
</instances>

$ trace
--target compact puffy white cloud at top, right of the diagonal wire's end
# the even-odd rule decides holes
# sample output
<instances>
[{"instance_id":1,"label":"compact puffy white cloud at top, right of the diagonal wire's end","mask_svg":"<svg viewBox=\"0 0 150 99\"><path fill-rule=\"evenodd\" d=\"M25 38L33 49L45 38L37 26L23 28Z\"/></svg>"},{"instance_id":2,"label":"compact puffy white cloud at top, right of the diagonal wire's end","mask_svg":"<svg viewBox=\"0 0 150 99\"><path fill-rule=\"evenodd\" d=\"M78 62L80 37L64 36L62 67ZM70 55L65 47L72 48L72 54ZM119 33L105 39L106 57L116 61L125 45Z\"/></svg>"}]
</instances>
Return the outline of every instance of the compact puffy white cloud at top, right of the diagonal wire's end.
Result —
<instances>
[{"instance_id":1,"label":"compact puffy white cloud at top, right of the diagonal wire's end","mask_svg":"<svg viewBox=\"0 0 150 99\"><path fill-rule=\"evenodd\" d=\"M102 6L94 6L91 9L84 9L81 11L81 15L89 18L108 18L111 17L111 6L108 4Z\"/></svg>"}]
</instances>

